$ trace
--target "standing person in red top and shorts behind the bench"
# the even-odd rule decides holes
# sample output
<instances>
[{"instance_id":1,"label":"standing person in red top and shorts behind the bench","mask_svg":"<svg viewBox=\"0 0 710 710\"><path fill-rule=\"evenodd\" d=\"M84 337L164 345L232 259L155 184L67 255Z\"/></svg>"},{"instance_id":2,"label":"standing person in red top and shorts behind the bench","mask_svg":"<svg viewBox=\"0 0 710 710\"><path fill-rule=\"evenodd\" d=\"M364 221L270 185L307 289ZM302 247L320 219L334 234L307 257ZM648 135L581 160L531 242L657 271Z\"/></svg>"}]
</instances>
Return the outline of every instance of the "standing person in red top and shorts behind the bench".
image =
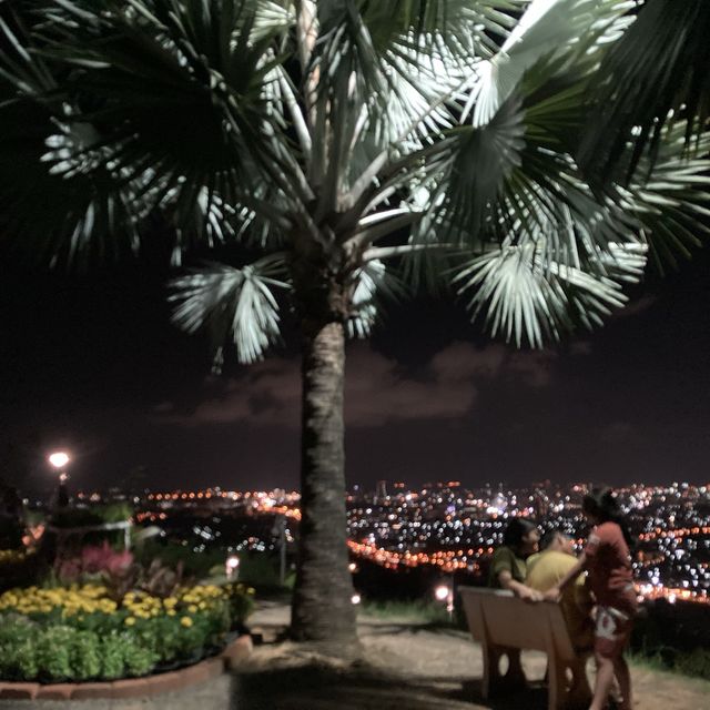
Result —
<instances>
[{"instance_id":1,"label":"standing person in red top and shorts behind the bench","mask_svg":"<svg viewBox=\"0 0 710 710\"><path fill-rule=\"evenodd\" d=\"M623 649L631 635L637 609L631 575L631 536L610 489L597 489L585 496L582 513L595 526L578 562L546 599L559 599L560 592L587 570L589 587L597 602L595 623L595 658L597 681L589 710L602 710L616 677L621 692L620 710L631 710L631 678Z\"/></svg>"}]
</instances>

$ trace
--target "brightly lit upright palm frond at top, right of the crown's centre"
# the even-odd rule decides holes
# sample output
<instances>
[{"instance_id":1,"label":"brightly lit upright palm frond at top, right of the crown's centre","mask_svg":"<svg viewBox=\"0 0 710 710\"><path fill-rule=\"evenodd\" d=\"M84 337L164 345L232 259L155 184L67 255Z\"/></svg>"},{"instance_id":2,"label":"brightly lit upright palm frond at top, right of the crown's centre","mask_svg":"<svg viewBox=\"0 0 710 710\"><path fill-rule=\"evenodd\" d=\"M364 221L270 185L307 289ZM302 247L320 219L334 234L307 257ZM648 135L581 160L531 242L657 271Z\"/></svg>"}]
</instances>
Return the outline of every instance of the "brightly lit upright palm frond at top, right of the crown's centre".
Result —
<instances>
[{"instance_id":1,"label":"brightly lit upright palm frond at top, right of the crown's centre","mask_svg":"<svg viewBox=\"0 0 710 710\"><path fill-rule=\"evenodd\" d=\"M454 125L448 104L470 64L505 39L515 23L509 13L523 4L318 4L321 36L311 75L317 74L322 118L314 150L314 174L326 193L320 214L337 202L336 194L346 195L368 175L382 151L402 155L419 150ZM341 184L333 184L334 173Z\"/></svg>"}]
</instances>

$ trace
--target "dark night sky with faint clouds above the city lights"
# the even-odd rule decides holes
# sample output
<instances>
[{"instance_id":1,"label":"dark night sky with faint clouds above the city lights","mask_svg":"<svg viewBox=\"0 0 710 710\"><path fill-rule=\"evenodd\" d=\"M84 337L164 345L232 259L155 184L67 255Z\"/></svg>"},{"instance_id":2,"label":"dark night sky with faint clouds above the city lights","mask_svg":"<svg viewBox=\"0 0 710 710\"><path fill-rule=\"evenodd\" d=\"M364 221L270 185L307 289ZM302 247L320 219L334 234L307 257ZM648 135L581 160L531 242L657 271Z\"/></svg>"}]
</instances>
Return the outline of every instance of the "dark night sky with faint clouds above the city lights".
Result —
<instances>
[{"instance_id":1,"label":"dark night sky with faint clouds above the city lights","mask_svg":"<svg viewBox=\"0 0 710 710\"><path fill-rule=\"evenodd\" d=\"M294 337L217 377L206 337L170 325L161 270L2 264L6 479L45 489L44 456L65 446L75 487L297 487ZM708 481L709 275L706 250L650 275L606 327L542 352L491 342L450 302L390 307L348 345L348 485Z\"/></svg>"}]
</instances>

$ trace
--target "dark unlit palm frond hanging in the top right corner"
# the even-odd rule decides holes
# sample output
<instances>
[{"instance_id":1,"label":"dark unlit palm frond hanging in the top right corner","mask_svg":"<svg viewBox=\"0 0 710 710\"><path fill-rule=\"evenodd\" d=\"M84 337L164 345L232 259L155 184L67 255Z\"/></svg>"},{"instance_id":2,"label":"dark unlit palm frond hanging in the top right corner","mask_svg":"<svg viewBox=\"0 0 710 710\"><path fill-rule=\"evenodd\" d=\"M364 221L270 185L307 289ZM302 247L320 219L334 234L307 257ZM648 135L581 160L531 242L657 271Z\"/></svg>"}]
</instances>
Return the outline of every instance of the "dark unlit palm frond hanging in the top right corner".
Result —
<instances>
[{"instance_id":1,"label":"dark unlit palm frond hanging in the top right corner","mask_svg":"<svg viewBox=\"0 0 710 710\"><path fill-rule=\"evenodd\" d=\"M667 125L683 120L689 146L710 116L710 4L647 0L636 10L636 21L595 77L580 151L580 163L605 183L620 162L626 162L628 180L645 150L652 162ZM627 161L629 141L633 151Z\"/></svg>"}]
</instances>

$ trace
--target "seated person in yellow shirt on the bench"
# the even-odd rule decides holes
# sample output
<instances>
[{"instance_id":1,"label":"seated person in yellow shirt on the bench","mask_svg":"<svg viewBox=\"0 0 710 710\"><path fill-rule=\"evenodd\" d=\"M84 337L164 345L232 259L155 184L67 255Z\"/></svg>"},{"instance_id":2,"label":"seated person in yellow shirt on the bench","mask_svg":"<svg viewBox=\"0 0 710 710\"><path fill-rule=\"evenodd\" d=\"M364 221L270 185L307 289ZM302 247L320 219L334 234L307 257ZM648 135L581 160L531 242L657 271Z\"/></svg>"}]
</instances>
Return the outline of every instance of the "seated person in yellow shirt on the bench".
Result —
<instances>
[{"instance_id":1,"label":"seated person in yellow shirt on the bench","mask_svg":"<svg viewBox=\"0 0 710 710\"><path fill-rule=\"evenodd\" d=\"M576 562L569 537L559 530L550 530L540 540L540 554L528 559L525 584L531 589L547 591L557 586ZM565 589L560 599L569 638L577 653L589 651L594 643L592 606L585 576L580 575L576 584Z\"/></svg>"}]
</instances>

